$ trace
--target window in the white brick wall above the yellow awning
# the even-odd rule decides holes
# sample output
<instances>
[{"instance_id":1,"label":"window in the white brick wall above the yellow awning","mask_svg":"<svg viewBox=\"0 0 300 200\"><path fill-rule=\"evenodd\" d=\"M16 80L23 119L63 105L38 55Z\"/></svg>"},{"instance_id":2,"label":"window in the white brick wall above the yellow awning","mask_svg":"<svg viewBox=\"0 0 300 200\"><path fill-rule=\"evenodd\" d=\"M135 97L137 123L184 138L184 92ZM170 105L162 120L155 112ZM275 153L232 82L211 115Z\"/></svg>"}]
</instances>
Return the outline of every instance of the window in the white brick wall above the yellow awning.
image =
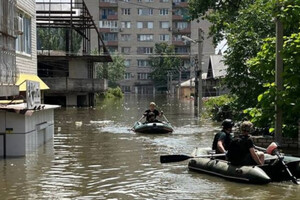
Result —
<instances>
[{"instance_id":1,"label":"window in the white brick wall above the yellow awning","mask_svg":"<svg viewBox=\"0 0 300 200\"><path fill-rule=\"evenodd\" d=\"M31 18L19 14L19 30L22 35L18 35L16 40L16 51L31 54Z\"/></svg>"}]
</instances>

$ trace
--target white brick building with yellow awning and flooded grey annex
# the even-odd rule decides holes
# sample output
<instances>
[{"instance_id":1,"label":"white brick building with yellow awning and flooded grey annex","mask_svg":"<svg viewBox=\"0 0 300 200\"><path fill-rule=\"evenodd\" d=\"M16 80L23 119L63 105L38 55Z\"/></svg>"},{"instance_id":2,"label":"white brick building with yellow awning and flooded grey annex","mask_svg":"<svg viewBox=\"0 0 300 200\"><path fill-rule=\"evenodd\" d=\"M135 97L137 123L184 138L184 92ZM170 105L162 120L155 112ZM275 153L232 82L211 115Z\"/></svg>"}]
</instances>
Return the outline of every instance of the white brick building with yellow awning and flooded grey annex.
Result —
<instances>
[{"instance_id":1,"label":"white brick building with yellow awning and flooded grey annex","mask_svg":"<svg viewBox=\"0 0 300 200\"><path fill-rule=\"evenodd\" d=\"M25 156L53 138L58 106L40 103L40 91L49 87L37 76L36 52L35 0L0 0L0 89L16 87L0 95L3 157Z\"/></svg>"}]
</instances>

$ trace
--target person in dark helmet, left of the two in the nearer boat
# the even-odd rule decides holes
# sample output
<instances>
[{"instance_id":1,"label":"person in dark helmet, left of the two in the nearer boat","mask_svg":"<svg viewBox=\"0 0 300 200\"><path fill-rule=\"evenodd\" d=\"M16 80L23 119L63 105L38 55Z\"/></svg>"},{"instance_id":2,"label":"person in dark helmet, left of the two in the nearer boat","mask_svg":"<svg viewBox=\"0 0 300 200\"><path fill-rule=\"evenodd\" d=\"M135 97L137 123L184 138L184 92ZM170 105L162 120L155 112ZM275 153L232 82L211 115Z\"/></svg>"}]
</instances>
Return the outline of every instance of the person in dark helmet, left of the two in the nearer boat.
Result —
<instances>
[{"instance_id":1,"label":"person in dark helmet, left of the two in the nearer boat","mask_svg":"<svg viewBox=\"0 0 300 200\"><path fill-rule=\"evenodd\" d=\"M222 122L222 130L217 133L214 137L214 141L212 144L212 149L216 151L216 153L225 153L228 150L228 146L232 141L232 127L234 126L234 122L231 119L225 119Z\"/></svg>"}]
</instances>

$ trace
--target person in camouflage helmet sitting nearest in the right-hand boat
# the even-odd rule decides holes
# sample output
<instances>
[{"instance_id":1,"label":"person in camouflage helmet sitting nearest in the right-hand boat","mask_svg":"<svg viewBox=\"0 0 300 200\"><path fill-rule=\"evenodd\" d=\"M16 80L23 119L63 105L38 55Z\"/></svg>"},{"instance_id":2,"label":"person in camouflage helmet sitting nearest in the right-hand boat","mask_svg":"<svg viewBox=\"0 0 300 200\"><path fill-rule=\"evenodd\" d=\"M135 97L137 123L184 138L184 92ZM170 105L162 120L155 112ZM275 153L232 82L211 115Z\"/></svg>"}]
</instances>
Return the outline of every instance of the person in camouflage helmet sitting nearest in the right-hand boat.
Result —
<instances>
[{"instance_id":1,"label":"person in camouflage helmet sitting nearest in the right-hand boat","mask_svg":"<svg viewBox=\"0 0 300 200\"><path fill-rule=\"evenodd\" d=\"M227 159L234 165L263 165L264 153L256 151L249 133L253 127L250 121L244 121L241 126L242 134L234 138L229 145Z\"/></svg>"}]
</instances>

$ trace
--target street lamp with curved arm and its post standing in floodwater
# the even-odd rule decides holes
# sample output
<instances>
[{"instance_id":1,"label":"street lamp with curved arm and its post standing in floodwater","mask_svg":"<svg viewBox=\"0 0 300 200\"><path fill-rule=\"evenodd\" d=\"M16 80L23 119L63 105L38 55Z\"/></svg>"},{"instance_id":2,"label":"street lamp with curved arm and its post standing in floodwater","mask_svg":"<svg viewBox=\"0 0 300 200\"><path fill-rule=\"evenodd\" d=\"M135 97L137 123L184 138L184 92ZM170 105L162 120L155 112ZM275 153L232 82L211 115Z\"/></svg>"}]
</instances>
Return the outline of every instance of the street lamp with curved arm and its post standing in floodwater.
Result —
<instances>
[{"instance_id":1,"label":"street lamp with curved arm and its post standing in floodwater","mask_svg":"<svg viewBox=\"0 0 300 200\"><path fill-rule=\"evenodd\" d=\"M200 116L202 111L202 52L203 52L203 30L198 29L198 40L193 40L187 36L181 37L183 40L198 43L198 65L195 67L195 101L194 112ZM199 96L199 97L198 97ZM198 108L199 107L199 108Z\"/></svg>"}]
</instances>

